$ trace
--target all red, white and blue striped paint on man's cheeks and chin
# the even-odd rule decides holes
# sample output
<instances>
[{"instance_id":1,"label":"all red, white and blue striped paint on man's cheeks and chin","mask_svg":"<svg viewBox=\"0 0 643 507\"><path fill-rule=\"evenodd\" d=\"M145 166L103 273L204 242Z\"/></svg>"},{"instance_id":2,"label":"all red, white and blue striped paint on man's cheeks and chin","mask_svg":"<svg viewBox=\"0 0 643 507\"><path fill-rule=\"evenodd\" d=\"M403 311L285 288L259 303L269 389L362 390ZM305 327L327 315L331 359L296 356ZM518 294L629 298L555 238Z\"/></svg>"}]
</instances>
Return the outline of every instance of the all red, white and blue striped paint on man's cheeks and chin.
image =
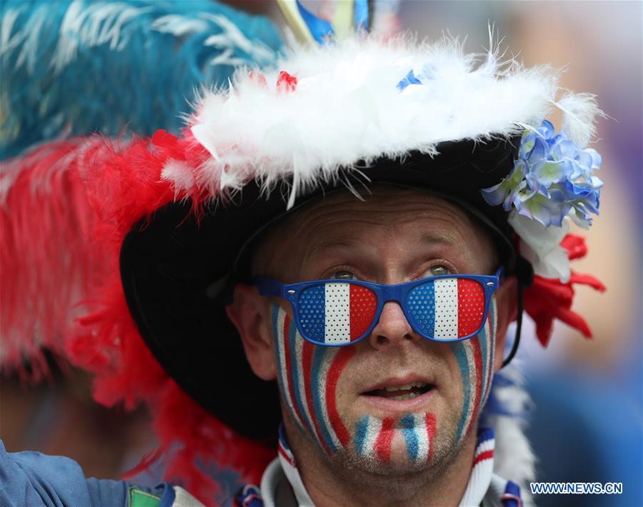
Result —
<instances>
[{"instance_id":1,"label":"all red, white and blue striped paint on man's cheeks and chin","mask_svg":"<svg viewBox=\"0 0 643 507\"><path fill-rule=\"evenodd\" d=\"M480 407L489 396L496 325L493 301L490 309L487 324L478 336L449 345L462 377L462 408L453 408L452 420L457 421L457 428L454 424L441 431L454 434L458 442L469 435ZM299 430L311 436L324 453L348 451L357 458L387 462L392 458L396 441L404 443L409 462L424 463L432 459L437 431L434 413L407 413L388 418L369 414L347 423L339 414L337 386L357 349L316 346L305 341L279 305L272 306L271 317L281 396ZM396 459L400 456L399 446Z\"/></svg>"}]
</instances>

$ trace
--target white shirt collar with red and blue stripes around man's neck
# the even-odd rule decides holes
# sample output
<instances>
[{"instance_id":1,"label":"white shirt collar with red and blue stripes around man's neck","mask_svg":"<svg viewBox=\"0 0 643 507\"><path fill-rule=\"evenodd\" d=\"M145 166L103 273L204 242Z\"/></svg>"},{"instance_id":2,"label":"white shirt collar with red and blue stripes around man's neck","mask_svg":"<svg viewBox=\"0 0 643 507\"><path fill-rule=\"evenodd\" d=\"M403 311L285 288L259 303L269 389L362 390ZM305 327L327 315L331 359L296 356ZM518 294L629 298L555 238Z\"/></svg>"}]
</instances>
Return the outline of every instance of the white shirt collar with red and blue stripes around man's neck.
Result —
<instances>
[{"instance_id":1,"label":"white shirt collar with red and blue stripes around man's neck","mask_svg":"<svg viewBox=\"0 0 643 507\"><path fill-rule=\"evenodd\" d=\"M474 463L469 476L467 489L460 501L460 506L479 506L489 486L494 484L507 483L502 478L494 476L494 448L495 438L493 428L480 428L474 452ZM297 499L299 507L314 507L306 486L301 481L299 470L294 455L290 450L285 438L283 426L279 428L279 456L274 458L264 472L261 478L261 497L264 500L264 506L272 507L275 505L275 493L279 480L286 476L292 491ZM492 504L495 502L492 502Z\"/></svg>"}]
</instances>

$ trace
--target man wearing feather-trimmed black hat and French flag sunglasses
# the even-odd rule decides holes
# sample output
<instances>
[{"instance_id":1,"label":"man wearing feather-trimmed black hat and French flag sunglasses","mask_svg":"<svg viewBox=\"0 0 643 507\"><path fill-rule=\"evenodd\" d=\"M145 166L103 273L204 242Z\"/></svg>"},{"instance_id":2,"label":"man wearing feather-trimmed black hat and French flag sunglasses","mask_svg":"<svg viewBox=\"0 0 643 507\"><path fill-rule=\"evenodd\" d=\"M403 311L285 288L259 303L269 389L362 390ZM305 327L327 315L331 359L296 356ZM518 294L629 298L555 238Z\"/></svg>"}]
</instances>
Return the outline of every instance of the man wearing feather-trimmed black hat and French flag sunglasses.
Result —
<instances>
[{"instance_id":1,"label":"man wearing feather-trimmed black hat and French flag sunglasses","mask_svg":"<svg viewBox=\"0 0 643 507\"><path fill-rule=\"evenodd\" d=\"M543 341L554 318L582 328L567 228L601 185L599 111L555 82L494 52L354 37L206 94L180 138L84 146L69 170L108 274L69 355L103 403L149 403L152 458L206 503L198 462L261 478L240 505L519 503L533 456L494 372L524 286Z\"/></svg>"}]
</instances>

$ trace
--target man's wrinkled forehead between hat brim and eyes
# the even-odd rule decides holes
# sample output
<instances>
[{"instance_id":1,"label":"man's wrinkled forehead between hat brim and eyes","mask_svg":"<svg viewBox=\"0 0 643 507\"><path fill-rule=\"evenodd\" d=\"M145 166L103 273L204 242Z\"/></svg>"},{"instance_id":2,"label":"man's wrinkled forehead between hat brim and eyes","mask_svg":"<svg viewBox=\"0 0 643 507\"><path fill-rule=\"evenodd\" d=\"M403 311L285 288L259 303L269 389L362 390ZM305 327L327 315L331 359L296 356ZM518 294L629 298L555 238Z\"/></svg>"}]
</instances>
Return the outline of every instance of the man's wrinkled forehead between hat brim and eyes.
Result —
<instances>
[{"instance_id":1,"label":"man's wrinkled forehead between hat brim and eyes","mask_svg":"<svg viewBox=\"0 0 643 507\"><path fill-rule=\"evenodd\" d=\"M267 261L260 262L263 266L276 268L287 262L296 269L304 258L363 250L378 241L398 239L407 248L444 244L462 249L472 236L489 234L457 204L428 192L379 185L362 199L337 191L311 201L267 231L257 253Z\"/></svg>"}]
</instances>

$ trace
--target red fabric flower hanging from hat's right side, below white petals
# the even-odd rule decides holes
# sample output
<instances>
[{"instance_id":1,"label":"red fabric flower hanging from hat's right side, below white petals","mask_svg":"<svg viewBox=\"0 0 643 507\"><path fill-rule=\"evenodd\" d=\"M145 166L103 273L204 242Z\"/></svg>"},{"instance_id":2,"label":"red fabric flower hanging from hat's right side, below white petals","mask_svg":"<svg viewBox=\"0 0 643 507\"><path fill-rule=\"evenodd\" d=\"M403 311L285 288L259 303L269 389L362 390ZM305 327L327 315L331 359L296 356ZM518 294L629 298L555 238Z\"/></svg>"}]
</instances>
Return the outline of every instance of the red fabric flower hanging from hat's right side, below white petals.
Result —
<instances>
[{"instance_id":1,"label":"red fabric flower hanging from hat's right side, below white petals","mask_svg":"<svg viewBox=\"0 0 643 507\"><path fill-rule=\"evenodd\" d=\"M587 254L587 245L581 236L567 234L561 246L567 250L569 260L581 258ZM605 286L594 276L572 271L567 283L534 275L534 283L524 291L524 309L536 323L536 336L542 346L546 347L549 338L552 337L554 318L578 329L586 338L592 338L592 331L587 326L587 322L578 313L572 311L576 283L590 286L601 292L605 290Z\"/></svg>"}]
</instances>

